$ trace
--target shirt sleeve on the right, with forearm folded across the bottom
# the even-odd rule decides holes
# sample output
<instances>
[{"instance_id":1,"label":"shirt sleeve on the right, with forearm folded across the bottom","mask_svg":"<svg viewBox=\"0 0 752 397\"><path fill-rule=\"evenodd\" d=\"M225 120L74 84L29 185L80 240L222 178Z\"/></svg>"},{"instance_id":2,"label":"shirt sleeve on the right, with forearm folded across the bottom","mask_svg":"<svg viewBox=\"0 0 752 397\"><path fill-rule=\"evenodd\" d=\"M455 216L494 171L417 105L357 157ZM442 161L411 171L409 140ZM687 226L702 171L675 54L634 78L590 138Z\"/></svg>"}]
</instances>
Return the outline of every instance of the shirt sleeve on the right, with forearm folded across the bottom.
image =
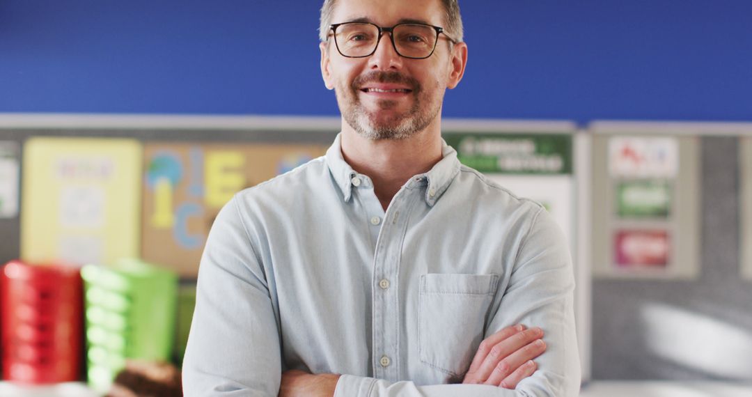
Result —
<instances>
[{"instance_id":1,"label":"shirt sleeve on the right, with forearm folded across the bottom","mask_svg":"<svg viewBox=\"0 0 752 397\"><path fill-rule=\"evenodd\" d=\"M575 397L581 382L575 334L575 277L572 257L561 229L547 211L535 215L520 243L501 304L493 314L486 337L517 323L544 330L545 353L535 359L538 370L517 384L517 389L488 385L446 384L416 386L370 377L342 375L335 397Z\"/></svg>"}]
</instances>

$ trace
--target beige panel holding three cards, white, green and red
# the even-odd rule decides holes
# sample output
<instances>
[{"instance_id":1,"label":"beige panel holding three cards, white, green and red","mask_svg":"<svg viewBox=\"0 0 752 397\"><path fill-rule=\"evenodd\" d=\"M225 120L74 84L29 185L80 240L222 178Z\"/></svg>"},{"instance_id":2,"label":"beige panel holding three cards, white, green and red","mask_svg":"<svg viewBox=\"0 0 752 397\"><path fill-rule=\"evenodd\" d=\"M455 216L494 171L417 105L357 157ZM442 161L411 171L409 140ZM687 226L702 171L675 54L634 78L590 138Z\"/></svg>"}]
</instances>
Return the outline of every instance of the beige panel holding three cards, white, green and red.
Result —
<instances>
[{"instance_id":1,"label":"beige panel holding three cards, white, green and red","mask_svg":"<svg viewBox=\"0 0 752 397\"><path fill-rule=\"evenodd\" d=\"M695 279L700 146L658 127L593 128L593 273Z\"/></svg>"}]
</instances>

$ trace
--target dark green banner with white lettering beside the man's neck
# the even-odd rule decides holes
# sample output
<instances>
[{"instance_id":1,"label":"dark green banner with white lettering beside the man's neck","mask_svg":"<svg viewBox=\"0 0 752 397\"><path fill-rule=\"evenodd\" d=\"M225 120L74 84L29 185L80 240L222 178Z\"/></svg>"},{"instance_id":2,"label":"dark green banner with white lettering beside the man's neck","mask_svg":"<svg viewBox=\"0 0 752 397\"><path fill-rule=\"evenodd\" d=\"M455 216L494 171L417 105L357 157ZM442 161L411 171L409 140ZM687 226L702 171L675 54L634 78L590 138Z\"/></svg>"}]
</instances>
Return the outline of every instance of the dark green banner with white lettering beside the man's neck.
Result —
<instances>
[{"instance_id":1,"label":"dark green banner with white lettering beside the man's neck","mask_svg":"<svg viewBox=\"0 0 752 397\"><path fill-rule=\"evenodd\" d=\"M447 133L462 164L496 174L572 174L572 135Z\"/></svg>"}]
</instances>

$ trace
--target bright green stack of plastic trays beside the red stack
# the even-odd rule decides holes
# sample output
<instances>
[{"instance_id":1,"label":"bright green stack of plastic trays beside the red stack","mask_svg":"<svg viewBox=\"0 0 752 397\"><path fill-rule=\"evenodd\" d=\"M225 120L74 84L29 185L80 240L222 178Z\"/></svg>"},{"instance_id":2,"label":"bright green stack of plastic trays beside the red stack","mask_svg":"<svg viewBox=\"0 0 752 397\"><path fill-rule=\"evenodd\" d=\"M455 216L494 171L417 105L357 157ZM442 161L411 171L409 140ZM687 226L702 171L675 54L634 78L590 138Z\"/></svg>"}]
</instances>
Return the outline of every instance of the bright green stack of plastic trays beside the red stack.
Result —
<instances>
[{"instance_id":1,"label":"bright green stack of plastic trays beside the red stack","mask_svg":"<svg viewBox=\"0 0 752 397\"><path fill-rule=\"evenodd\" d=\"M138 259L81 269L86 290L89 385L106 392L126 359L168 361L177 275Z\"/></svg>"}]
</instances>

